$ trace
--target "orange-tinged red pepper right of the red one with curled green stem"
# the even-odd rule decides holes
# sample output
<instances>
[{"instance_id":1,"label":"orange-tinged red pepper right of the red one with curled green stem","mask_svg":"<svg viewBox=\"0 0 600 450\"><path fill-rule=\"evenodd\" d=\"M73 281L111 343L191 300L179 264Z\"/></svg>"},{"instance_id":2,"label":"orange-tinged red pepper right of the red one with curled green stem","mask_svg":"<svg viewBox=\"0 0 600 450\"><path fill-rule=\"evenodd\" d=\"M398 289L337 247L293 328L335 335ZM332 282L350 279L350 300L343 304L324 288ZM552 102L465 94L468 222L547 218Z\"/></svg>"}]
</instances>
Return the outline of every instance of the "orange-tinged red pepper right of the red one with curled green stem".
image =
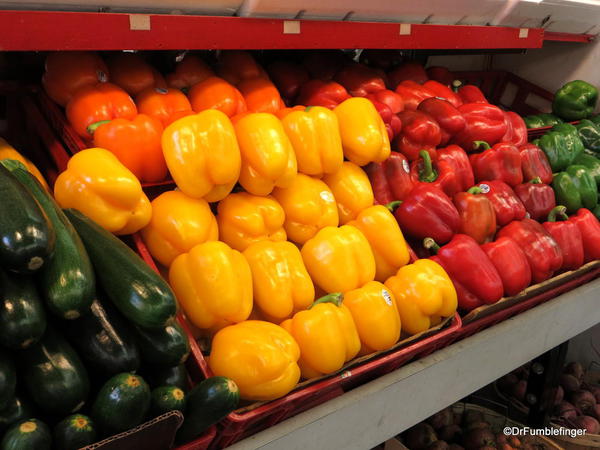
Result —
<instances>
[{"instance_id":1,"label":"orange-tinged red pepper right of the red one with curled green stem","mask_svg":"<svg viewBox=\"0 0 600 450\"><path fill-rule=\"evenodd\" d=\"M481 188L473 186L467 192L459 192L454 195L453 201L460 216L459 233L471 236L478 244L494 238L496 212Z\"/></svg>"}]
</instances>

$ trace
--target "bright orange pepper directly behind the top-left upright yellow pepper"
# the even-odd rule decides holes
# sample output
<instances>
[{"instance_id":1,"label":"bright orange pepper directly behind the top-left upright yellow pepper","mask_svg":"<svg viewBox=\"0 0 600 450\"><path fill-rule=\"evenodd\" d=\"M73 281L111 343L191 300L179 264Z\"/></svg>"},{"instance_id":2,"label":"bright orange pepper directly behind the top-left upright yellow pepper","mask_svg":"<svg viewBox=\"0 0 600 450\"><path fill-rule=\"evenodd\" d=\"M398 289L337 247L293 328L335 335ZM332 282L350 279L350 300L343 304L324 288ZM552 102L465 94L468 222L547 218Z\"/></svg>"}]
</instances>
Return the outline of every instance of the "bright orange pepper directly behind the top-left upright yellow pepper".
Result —
<instances>
[{"instance_id":1,"label":"bright orange pepper directly behind the top-left upright yellow pepper","mask_svg":"<svg viewBox=\"0 0 600 450\"><path fill-rule=\"evenodd\" d=\"M227 117L246 111L246 101L235 86L218 77L210 77L195 84L188 93L192 109L201 112L218 109Z\"/></svg>"}]
</instances>

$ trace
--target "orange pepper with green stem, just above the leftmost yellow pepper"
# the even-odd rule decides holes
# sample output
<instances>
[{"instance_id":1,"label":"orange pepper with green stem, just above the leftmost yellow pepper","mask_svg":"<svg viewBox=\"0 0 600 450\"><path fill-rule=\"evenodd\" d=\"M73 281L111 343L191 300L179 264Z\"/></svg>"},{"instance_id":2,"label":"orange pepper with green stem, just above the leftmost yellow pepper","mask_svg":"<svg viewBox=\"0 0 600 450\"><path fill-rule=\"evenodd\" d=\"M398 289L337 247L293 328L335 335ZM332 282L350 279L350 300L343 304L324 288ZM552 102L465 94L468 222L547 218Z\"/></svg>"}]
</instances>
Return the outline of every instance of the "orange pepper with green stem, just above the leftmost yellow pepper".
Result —
<instances>
[{"instance_id":1,"label":"orange pepper with green stem, just above the leftmost yellow pepper","mask_svg":"<svg viewBox=\"0 0 600 450\"><path fill-rule=\"evenodd\" d=\"M94 128L94 145L114 153L140 181L166 178L167 163L160 143L163 128L157 119L138 114L133 120L107 120L97 128L96 124L88 127Z\"/></svg>"}]
</instances>

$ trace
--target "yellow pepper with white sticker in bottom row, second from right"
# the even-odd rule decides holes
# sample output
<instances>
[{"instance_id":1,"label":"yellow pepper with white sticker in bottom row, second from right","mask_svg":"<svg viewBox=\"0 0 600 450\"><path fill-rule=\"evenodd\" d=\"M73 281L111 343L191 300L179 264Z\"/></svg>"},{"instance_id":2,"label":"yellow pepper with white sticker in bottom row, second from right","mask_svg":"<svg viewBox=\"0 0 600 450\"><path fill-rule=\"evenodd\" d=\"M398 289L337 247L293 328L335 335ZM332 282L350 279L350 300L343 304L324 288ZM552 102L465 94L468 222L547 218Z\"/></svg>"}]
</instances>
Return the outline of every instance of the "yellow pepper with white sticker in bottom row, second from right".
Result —
<instances>
[{"instance_id":1,"label":"yellow pepper with white sticker in bottom row, second from right","mask_svg":"<svg viewBox=\"0 0 600 450\"><path fill-rule=\"evenodd\" d=\"M400 338L400 315L396 299L378 281L344 294L344 305L350 310L360 342L361 353L391 348Z\"/></svg>"}]
</instances>

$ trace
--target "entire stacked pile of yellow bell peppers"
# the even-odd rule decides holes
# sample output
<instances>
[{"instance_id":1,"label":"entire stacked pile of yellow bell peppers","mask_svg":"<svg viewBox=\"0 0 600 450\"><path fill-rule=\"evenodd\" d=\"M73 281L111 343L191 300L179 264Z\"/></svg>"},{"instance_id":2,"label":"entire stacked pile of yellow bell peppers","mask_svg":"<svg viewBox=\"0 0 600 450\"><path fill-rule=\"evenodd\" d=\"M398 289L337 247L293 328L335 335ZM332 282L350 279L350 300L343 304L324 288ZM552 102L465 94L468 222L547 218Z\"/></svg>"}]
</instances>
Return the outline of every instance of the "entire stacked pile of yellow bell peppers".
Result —
<instances>
[{"instance_id":1,"label":"entire stacked pile of yellow bell peppers","mask_svg":"<svg viewBox=\"0 0 600 450\"><path fill-rule=\"evenodd\" d=\"M409 264L396 219L373 204L360 166L390 144L372 103L279 117L207 110L173 122L162 147L178 189L152 202L99 148L55 184L61 206L116 234L141 230L188 320L212 337L212 371L246 400L281 397L457 307L444 269Z\"/></svg>"}]
</instances>

